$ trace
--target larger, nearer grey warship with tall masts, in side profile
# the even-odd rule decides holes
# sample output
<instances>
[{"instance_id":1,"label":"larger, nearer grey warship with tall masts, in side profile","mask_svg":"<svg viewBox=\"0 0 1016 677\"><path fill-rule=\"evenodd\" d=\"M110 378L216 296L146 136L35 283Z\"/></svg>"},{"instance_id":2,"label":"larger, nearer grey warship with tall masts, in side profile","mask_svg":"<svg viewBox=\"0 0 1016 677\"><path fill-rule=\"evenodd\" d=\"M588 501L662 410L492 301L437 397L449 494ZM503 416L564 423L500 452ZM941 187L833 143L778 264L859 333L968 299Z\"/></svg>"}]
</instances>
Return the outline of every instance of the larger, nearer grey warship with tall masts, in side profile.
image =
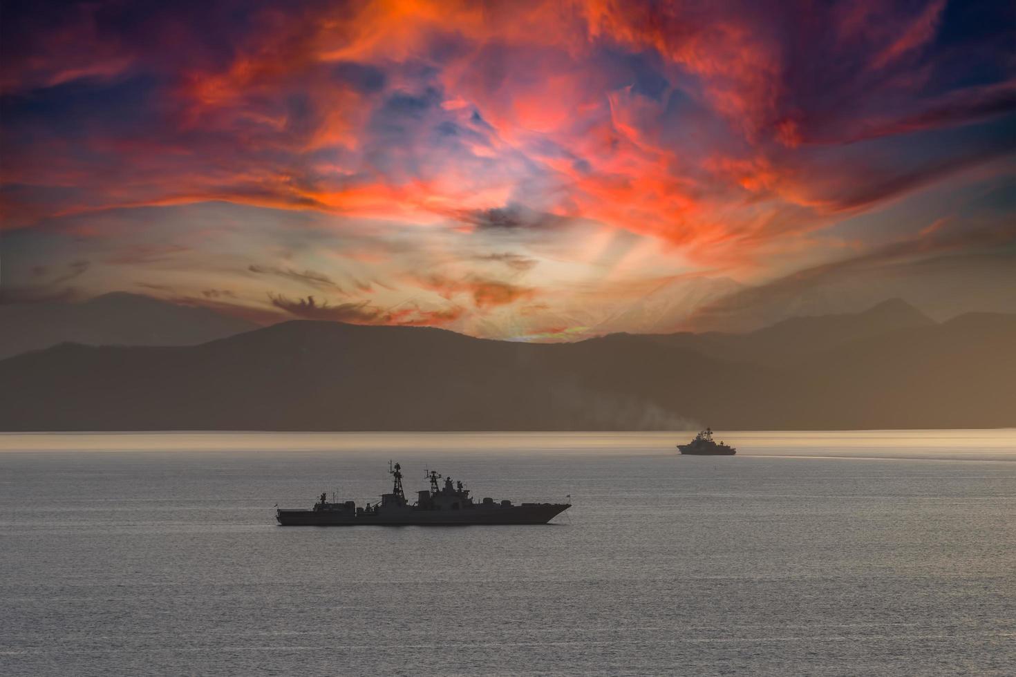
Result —
<instances>
[{"instance_id":1,"label":"larger, nearer grey warship with tall masts, in side profile","mask_svg":"<svg viewBox=\"0 0 1016 677\"><path fill-rule=\"evenodd\" d=\"M571 503L522 503L512 505L510 500L495 501L484 498L473 502L469 490L462 488L462 482L453 483L451 477L444 478L444 486L438 486L441 475L435 471L426 474L430 480L429 489L417 492L417 500L410 503L402 492L402 472L399 464L388 464L388 472L394 483L391 493L381 495L381 500L373 505L367 503L357 507L352 500L327 501L321 499L310 510L278 509L275 519L283 527L354 527L377 525L385 527L405 526L466 526L487 524L547 524ZM570 497L570 496L569 496Z\"/></svg>"}]
</instances>

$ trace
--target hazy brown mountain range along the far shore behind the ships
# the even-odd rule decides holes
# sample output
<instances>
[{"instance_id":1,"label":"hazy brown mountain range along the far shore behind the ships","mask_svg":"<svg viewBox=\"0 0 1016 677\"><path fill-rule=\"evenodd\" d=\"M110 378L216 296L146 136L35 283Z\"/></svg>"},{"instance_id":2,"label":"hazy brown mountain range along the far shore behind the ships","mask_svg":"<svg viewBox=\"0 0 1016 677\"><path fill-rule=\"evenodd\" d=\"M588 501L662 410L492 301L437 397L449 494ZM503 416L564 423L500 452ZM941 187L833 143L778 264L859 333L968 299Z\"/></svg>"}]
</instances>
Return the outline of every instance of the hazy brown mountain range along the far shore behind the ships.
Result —
<instances>
[{"instance_id":1,"label":"hazy brown mountain range along the far shore behind the ships","mask_svg":"<svg viewBox=\"0 0 1016 677\"><path fill-rule=\"evenodd\" d=\"M576 343L294 321L199 345L0 360L2 430L633 430L1016 425L1016 316L900 300L748 334Z\"/></svg>"}]
</instances>

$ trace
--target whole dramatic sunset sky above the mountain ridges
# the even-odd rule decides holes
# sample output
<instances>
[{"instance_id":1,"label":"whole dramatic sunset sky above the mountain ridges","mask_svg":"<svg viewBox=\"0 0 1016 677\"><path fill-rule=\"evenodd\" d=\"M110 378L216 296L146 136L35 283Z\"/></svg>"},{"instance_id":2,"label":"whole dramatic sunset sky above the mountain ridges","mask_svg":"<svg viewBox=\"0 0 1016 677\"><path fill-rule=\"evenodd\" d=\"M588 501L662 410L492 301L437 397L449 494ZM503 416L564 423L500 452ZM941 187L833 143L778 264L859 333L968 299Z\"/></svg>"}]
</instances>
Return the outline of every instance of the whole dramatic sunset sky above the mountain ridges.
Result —
<instances>
[{"instance_id":1,"label":"whole dramatic sunset sky above the mountain ridges","mask_svg":"<svg viewBox=\"0 0 1016 677\"><path fill-rule=\"evenodd\" d=\"M1016 311L1014 7L4 2L3 300L526 340Z\"/></svg>"}]
</instances>

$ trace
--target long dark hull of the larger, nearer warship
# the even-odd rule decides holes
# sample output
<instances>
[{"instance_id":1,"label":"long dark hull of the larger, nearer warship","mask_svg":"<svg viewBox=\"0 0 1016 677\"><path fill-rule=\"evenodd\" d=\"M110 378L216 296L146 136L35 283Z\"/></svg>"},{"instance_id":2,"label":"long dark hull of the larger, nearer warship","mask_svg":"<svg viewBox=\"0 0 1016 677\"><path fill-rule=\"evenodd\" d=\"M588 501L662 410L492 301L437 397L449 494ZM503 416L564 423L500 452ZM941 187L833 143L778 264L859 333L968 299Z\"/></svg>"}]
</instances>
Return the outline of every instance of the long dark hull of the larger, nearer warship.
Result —
<instances>
[{"instance_id":1,"label":"long dark hull of the larger, nearer warship","mask_svg":"<svg viewBox=\"0 0 1016 677\"><path fill-rule=\"evenodd\" d=\"M547 524L571 507L569 503L533 503L462 511L417 511L412 509L363 513L278 510L275 519L283 527L467 527L480 525Z\"/></svg>"}]
</instances>

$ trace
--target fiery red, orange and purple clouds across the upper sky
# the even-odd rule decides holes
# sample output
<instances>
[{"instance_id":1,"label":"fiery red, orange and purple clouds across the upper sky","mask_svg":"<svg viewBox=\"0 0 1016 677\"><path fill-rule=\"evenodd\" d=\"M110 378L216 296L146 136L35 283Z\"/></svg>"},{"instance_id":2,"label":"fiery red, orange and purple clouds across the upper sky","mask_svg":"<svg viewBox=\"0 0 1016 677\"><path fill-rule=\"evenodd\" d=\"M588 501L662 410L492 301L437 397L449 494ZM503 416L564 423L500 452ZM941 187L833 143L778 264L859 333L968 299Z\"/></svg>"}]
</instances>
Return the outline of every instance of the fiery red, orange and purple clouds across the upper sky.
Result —
<instances>
[{"instance_id":1,"label":"fiery red, orange and purple clouds across the upper sky","mask_svg":"<svg viewBox=\"0 0 1016 677\"><path fill-rule=\"evenodd\" d=\"M478 239L592 221L727 273L1008 147L998 131L909 140L1012 110L1012 76L997 75L1011 31L978 33L957 65L936 43L944 0L212 4L5 15L0 227L101 241L122 230L97 214L214 201ZM378 264L369 250L347 258ZM271 272L335 291L303 269ZM537 293L418 284L481 311ZM273 302L363 322L461 315Z\"/></svg>"}]
</instances>

